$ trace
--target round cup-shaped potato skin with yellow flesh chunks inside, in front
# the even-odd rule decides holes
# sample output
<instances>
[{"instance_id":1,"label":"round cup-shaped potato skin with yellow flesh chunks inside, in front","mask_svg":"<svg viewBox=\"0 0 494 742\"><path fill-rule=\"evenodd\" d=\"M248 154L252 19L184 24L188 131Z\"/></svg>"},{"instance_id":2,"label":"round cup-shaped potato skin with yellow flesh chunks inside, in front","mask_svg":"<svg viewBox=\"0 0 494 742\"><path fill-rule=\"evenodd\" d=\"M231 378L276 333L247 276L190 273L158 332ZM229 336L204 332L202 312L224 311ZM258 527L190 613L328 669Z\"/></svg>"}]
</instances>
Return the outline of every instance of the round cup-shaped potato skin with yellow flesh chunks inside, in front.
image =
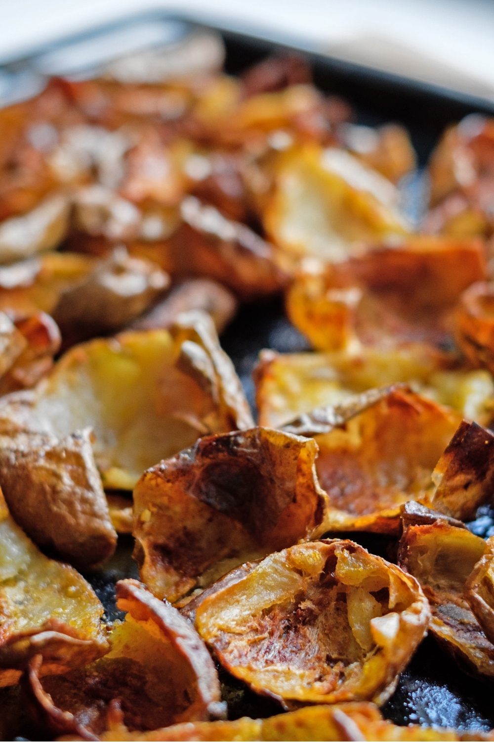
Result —
<instances>
[{"instance_id":1,"label":"round cup-shaped potato skin with yellow flesh chunks inside, in front","mask_svg":"<svg viewBox=\"0 0 494 742\"><path fill-rule=\"evenodd\" d=\"M338 564L341 559L343 564ZM360 574L359 569L362 570ZM277 579L283 579L281 575L288 575L290 572L293 575L293 584L288 581L290 578L285 577L286 585L282 585L281 588L276 585ZM264 575L262 579L267 579L267 574L273 576L270 578L269 588L272 592L267 595L266 600L264 600L266 585L259 581L261 574ZM378 646L378 649L375 651L371 649L370 654L363 652L356 665L352 665L355 674L348 671L349 674L346 675L337 666L336 672L341 671L340 683L333 681L321 683L319 688L318 683L314 686L314 682L311 681L306 687L305 683L308 683L308 680L304 680L304 671L307 671L307 677L312 677L314 667L318 668L318 675L326 678L328 674L333 673L332 667L328 669L330 660L327 659L330 657L327 652L331 650L323 649L324 657L318 657L321 648L313 646L313 639L304 636L305 632L309 631L310 636L314 637L312 629L303 628L307 624L311 626L316 623L318 613L324 611L323 606L328 605L327 602L324 603L327 598L321 604L318 597L315 597L316 593L311 593L307 588L310 578L318 581L323 574L325 576L323 582L318 582L318 590L322 591L322 594L330 589L330 585L336 589L342 582L352 585L351 593L356 586L364 583L368 575L379 574L382 577L386 574L387 584L393 583L398 590L393 598L397 602L393 603L393 600L390 600L390 603L401 612L393 613L392 617L387 614L388 618L384 616L382 619L384 623L389 622L389 626L394 622L389 642L384 639L384 634L379 634L378 638L376 633L374 639L369 638L370 634L367 639L360 635L362 644L367 646L367 651L372 646ZM257 565L243 565L216 582L183 610L190 617L195 616L199 634L229 672L247 682L261 695L277 698L285 709L297 708L300 703L339 703L343 700L374 700L375 703L381 704L393 693L398 674L407 665L416 646L424 637L430 617L427 599L418 582L414 579L408 582L409 579L410 576L405 575L400 568L390 565L380 557L373 557L353 542L338 539L323 540L293 546L278 554L272 554ZM338 582L339 580L341 582ZM383 580L386 582L384 577ZM326 588L323 586L324 582L327 582ZM254 591L253 594L250 593L251 590ZM393 591L393 588L390 590ZM397 598L398 594L401 597ZM258 608L255 603L257 596ZM229 605L233 611L230 614ZM281 605L290 605L290 608L287 608L286 623ZM270 610L264 614L264 609L268 606ZM279 615L276 613L278 610ZM336 640L335 637L339 640L341 634L349 630L347 605L341 607L341 610L343 611L341 620L338 619L338 614L335 614L331 623L333 640ZM244 611L247 611L252 621L243 617ZM261 616L264 616L264 621ZM257 628L256 621L259 621ZM363 621L365 622L364 619ZM278 627L277 622L280 624ZM290 622L293 622L292 626ZM376 629L377 624L378 620L375 621ZM372 625L367 624L368 626ZM232 633L229 633L230 631ZM319 638L323 631L322 626L319 626L317 634ZM350 631L353 631L353 628ZM370 631L374 636L374 629L370 628ZM307 649L304 644L306 641L312 647L310 660L304 656ZM290 646L291 642L293 646ZM264 660L267 655L271 656L270 651L276 651L276 661L273 658ZM345 654L338 654L338 657L345 657ZM273 662L273 670L278 669L273 672L273 677L270 677L269 667L273 666ZM286 673L283 674L282 683L276 680L278 672ZM294 680L294 677L298 680Z\"/></svg>"}]
</instances>

